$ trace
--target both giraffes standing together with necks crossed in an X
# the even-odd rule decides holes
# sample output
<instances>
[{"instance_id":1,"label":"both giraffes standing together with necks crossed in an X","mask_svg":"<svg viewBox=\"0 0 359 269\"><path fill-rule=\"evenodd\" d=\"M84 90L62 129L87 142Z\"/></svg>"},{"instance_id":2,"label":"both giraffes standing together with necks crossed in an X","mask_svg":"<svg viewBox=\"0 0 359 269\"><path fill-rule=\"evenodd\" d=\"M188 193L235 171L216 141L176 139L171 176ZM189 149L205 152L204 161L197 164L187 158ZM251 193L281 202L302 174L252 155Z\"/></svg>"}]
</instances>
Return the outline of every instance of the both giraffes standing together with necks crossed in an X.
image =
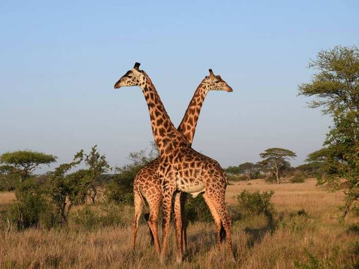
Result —
<instances>
[{"instance_id":1,"label":"both giraffes standing together with necks crossed in an X","mask_svg":"<svg viewBox=\"0 0 359 269\"><path fill-rule=\"evenodd\" d=\"M176 261L182 262L186 248L186 223L184 203L187 193L203 197L213 216L217 230L217 245L221 247L223 230L225 231L230 255L233 257L231 239L231 218L225 206L227 177L220 164L191 148L195 127L204 98L210 90L232 89L219 75L209 70L196 89L178 129L173 126L151 79L139 63L127 71L115 84L115 89L125 86L139 86L145 96L149 109L154 140L159 150L159 157L146 165L136 175L134 181L134 205L132 246L134 249L139 217L144 206L144 197L149 207L148 226L153 236L156 251L161 262L165 259L169 233L172 201L176 234ZM162 248L159 245L157 219L159 206L163 204Z\"/></svg>"}]
</instances>

